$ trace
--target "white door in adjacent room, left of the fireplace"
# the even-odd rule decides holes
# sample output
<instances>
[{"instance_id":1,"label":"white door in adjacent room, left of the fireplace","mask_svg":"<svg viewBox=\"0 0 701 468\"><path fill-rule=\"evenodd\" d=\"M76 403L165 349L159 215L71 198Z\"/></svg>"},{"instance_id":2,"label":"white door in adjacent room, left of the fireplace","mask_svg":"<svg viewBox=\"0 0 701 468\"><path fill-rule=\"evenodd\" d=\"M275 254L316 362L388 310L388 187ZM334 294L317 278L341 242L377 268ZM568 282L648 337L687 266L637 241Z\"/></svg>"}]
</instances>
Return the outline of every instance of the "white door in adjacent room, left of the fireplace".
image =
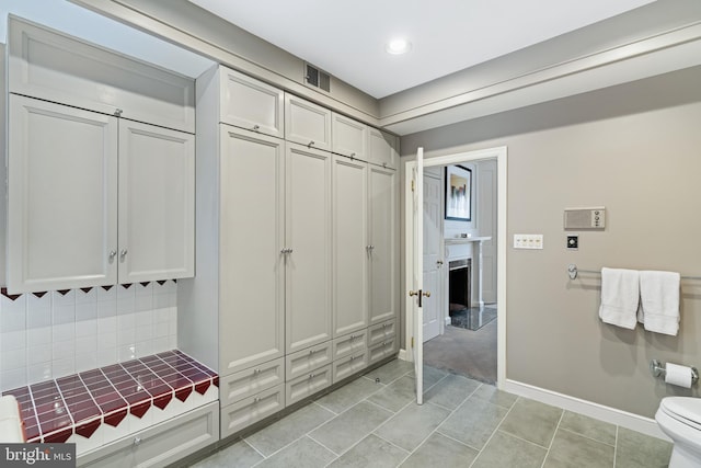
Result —
<instances>
[{"instance_id":1,"label":"white door in adjacent room, left of the fireplace","mask_svg":"<svg viewBox=\"0 0 701 468\"><path fill-rule=\"evenodd\" d=\"M440 252L441 209L440 209L440 179L425 174L424 176L424 287L432 292L430 297L424 297L424 342L441 333L440 313L441 298L437 294L440 288Z\"/></svg>"}]
</instances>

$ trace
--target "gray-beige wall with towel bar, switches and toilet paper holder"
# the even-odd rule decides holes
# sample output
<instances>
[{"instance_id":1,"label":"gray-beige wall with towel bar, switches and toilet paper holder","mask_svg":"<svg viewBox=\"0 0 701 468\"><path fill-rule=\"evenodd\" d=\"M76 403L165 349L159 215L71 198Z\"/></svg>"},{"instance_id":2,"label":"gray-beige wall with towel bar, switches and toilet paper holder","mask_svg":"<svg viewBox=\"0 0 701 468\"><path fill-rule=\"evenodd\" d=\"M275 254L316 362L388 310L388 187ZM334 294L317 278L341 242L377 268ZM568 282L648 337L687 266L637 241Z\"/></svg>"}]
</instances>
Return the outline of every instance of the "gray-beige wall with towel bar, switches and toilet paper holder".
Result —
<instances>
[{"instance_id":1,"label":"gray-beige wall with towel bar, switches and toilet paper holder","mask_svg":"<svg viewBox=\"0 0 701 468\"><path fill-rule=\"evenodd\" d=\"M699 82L701 67L402 138L406 158L508 147L507 244L544 235L542 251L507 250L508 379L644 416L663 396L699 395L654 379L648 363L701 365L701 281L682 281L680 333L666 336L602 324L599 276L566 273L701 276ZM606 206L606 230L578 232L567 251L563 209L593 205Z\"/></svg>"}]
</instances>

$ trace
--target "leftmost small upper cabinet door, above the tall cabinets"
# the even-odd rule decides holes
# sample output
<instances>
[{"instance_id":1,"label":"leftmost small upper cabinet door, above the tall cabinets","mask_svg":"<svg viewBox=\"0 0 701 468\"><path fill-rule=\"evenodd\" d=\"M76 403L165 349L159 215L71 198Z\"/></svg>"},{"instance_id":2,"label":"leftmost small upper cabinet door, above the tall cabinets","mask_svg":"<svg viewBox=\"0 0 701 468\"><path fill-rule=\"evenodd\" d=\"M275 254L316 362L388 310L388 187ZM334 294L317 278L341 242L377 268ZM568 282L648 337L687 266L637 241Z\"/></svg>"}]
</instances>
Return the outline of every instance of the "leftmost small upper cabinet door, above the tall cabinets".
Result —
<instances>
[{"instance_id":1,"label":"leftmost small upper cabinet door, above the tall cabinets","mask_svg":"<svg viewBox=\"0 0 701 468\"><path fill-rule=\"evenodd\" d=\"M226 67L219 69L220 122L285 138L285 93Z\"/></svg>"}]
</instances>

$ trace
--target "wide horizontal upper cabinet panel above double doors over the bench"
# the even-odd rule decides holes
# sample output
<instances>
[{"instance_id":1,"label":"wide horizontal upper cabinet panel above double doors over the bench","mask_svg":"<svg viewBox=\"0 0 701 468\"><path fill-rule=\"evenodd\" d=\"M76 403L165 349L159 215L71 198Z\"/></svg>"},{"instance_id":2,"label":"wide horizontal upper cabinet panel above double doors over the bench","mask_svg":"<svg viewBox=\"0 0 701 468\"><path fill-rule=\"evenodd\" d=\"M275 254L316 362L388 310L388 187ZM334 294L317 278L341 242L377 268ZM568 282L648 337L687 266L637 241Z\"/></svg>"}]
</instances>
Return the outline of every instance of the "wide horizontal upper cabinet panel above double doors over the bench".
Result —
<instances>
[{"instance_id":1,"label":"wide horizontal upper cabinet panel above double doors over the bench","mask_svg":"<svg viewBox=\"0 0 701 468\"><path fill-rule=\"evenodd\" d=\"M9 91L195 132L194 80L11 16Z\"/></svg>"}]
</instances>

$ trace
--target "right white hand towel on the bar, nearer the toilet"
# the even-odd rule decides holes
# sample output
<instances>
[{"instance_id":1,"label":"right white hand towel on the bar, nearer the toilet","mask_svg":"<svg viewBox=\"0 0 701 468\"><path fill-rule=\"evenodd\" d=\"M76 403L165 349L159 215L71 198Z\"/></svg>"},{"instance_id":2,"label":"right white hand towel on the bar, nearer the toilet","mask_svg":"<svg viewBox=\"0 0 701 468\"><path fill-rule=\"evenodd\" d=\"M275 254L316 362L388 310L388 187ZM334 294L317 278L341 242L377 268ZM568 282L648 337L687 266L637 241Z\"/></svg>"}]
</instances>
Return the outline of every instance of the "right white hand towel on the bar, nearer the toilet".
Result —
<instances>
[{"instance_id":1,"label":"right white hand towel on the bar, nearer the toilet","mask_svg":"<svg viewBox=\"0 0 701 468\"><path fill-rule=\"evenodd\" d=\"M645 324L645 330L677 334L679 331L679 273L675 272L640 272L639 320Z\"/></svg>"}]
</instances>

